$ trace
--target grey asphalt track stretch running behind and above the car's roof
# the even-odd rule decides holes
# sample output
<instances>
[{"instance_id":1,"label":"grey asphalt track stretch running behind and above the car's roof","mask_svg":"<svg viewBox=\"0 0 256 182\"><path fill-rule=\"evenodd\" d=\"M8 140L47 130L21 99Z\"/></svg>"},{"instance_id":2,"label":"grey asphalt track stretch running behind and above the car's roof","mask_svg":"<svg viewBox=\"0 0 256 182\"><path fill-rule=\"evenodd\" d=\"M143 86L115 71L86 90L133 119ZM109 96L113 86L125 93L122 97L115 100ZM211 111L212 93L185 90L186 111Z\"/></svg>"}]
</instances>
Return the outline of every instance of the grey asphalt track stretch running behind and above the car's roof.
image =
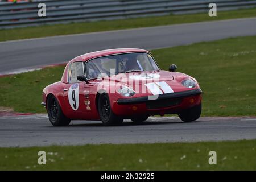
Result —
<instances>
[{"instance_id":1,"label":"grey asphalt track stretch running behind and above the car's roof","mask_svg":"<svg viewBox=\"0 0 256 182\"><path fill-rule=\"evenodd\" d=\"M82 53L101 49L155 49L249 35L256 35L256 18L2 42L0 75L67 62ZM170 64L175 61L170 57Z\"/></svg>"}]
</instances>

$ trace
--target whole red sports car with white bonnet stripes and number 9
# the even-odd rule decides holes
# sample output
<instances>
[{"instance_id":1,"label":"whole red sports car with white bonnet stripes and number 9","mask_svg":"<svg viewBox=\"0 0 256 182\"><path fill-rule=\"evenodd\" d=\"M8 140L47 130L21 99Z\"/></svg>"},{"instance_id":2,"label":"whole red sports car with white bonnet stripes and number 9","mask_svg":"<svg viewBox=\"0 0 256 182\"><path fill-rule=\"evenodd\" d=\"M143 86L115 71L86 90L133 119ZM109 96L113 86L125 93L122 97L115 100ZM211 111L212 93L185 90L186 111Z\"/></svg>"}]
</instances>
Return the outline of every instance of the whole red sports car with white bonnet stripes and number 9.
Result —
<instances>
[{"instance_id":1,"label":"whole red sports car with white bonnet stripes and number 9","mask_svg":"<svg viewBox=\"0 0 256 182\"><path fill-rule=\"evenodd\" d=\"M201 114L201 89L195 78L160 70L151 53L143 49L109 49L86 53L69 61L59 82L43 90L53 126L71 119L98 120L117 125L135 123L150 115L177 114L185 122Z\"/></svg>"}]
</instances>

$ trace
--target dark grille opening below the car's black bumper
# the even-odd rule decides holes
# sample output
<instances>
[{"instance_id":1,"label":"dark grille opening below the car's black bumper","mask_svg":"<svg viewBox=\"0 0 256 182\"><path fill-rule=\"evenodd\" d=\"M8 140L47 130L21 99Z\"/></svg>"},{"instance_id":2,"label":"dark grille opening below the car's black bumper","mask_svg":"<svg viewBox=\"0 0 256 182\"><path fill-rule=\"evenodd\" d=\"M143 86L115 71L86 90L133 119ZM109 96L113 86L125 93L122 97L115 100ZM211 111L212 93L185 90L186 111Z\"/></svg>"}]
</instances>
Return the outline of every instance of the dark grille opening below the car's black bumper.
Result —
<instances>
[{"instance_id":1,"label":"dark grille opening below the car's black bumper","mask_svg":"<svg viewBox=\"0 0 256 182\"><path fill-rule=\"evenodd\" d=\"M147 109L161 109L164 107L171 107L179 105L182 102L182 98L168 98L164 100L151 100L146 102Z\"/></svg>"}]
</instances>

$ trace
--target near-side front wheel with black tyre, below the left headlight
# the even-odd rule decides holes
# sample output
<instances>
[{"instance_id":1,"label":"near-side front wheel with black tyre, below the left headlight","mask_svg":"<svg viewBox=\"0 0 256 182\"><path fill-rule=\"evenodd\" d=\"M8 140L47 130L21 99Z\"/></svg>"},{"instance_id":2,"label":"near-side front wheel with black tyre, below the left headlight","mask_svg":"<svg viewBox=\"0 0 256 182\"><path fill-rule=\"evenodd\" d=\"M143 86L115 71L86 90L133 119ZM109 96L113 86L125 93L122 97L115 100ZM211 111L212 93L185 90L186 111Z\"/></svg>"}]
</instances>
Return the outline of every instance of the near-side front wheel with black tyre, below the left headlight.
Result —
<instances>
[{"instance_id":1,"label":"near-side front wheel with black tyre, below the left headlight","mask_svg":"<svg viewBox=\"0 0 256 182\"><path fill-rule=\"evenodd\" d=\"M123 122L123 118L113 113L107 94L100 94L98 98L98 113L104 125L120 125Z\"/></svg>"}]
</instances>

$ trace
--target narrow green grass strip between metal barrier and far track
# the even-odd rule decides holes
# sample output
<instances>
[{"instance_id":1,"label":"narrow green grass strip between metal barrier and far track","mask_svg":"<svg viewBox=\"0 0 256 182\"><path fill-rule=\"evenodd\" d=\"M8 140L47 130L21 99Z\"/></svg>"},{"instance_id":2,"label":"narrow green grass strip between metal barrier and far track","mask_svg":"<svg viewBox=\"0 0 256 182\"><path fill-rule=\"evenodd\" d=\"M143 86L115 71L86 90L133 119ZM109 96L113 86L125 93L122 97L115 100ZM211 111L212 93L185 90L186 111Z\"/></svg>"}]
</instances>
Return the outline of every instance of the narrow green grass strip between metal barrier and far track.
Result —
<instances>
[{"instance_id":1,"label":"narrow green grass strip between metal barrier and far track","mask_svg":"<svg viewBox=\"0 0 256 182\"><path fill-rule=\"evenodd\" d=\"M17 40L26 38L39 38L44 36L79 34L85 32L120 30L126 28L153 27L168 24L203 22L210 20L223 20L232 18L255 17L256 8L241 9L233 11L218 11L217 17L211 18L208 13L168 15L150 18L134 18L123 20L110 20L100 22L84 22L44 25L38 27L14 28L11 30L0 30L0 41Z\"/></svg>"}]
</instances>

